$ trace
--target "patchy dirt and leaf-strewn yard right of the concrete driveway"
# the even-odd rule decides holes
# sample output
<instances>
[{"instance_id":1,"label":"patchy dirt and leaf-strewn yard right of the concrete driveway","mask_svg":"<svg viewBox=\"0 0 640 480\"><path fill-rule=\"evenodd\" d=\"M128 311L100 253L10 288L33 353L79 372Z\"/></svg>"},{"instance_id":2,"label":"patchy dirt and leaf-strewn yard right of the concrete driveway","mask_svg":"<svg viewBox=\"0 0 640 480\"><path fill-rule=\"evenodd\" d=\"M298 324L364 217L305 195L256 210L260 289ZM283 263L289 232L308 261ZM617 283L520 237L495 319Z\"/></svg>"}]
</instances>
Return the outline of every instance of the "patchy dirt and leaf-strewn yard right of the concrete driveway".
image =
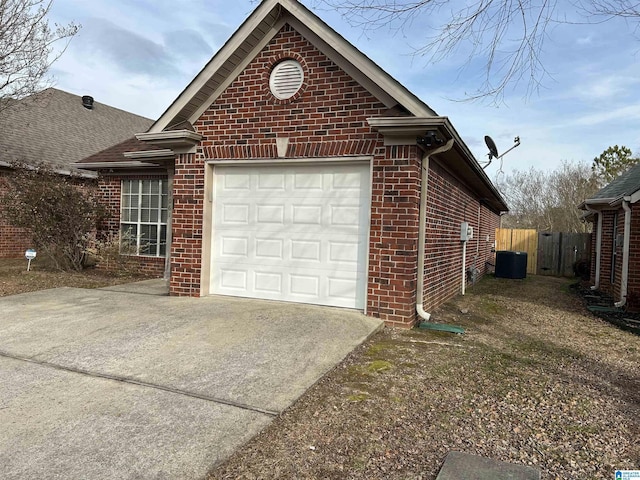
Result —
<instances>
[{"instance_id":1,"label":"patchy dirt and leaf-strewn yard right of the concrete driveway","mask_svg":"<svg viewBox=\"0 0 640 480\"><path fill-rule=\"evenodd\" d=\"M640 337L570 283L485 278L434 312L465 335L383 330L210 480L435 479L450 450L543 479L640 468Z\"/></svg>"}]
</instances>

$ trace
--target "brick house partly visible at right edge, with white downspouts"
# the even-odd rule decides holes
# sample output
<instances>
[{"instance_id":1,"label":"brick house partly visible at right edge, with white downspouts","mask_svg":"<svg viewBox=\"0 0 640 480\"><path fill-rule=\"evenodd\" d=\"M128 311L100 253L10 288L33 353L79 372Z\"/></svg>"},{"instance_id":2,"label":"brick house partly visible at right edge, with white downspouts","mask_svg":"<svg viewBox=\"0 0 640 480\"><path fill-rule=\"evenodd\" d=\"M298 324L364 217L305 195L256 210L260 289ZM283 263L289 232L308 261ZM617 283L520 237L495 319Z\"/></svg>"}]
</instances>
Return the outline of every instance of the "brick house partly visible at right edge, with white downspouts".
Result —
<instances>
[{"instance_id":1,"label":"brick house partly visible at right edge, with white downspouts","mask_svg":"<svg viewBox=\"0 0 640 480\"><path fill-rule=\"evenodd\" d=\"M640 164L580 207L594 223L591 283L619 307L640 309Z\"/></svg>"}]
</instances>

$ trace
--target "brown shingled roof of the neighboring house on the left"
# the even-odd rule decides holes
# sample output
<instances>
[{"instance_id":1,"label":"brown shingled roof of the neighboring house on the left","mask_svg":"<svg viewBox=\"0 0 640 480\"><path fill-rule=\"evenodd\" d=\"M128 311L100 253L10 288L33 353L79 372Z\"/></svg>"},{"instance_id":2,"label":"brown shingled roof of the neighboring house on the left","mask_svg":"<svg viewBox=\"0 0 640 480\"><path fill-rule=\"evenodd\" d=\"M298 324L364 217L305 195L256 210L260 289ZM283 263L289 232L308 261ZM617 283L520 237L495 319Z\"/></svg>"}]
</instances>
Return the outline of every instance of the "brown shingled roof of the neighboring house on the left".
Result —
<instances>
[{"instance_id":1,"label":"brown shingled roof of the neighboring house on the left","mask_svg":"<svg viewBox=\"0 0 640 480\"><path fill-rule=\"evenodd\" d=\"M76 171L71 164L146 131L152 123L95 101L92 109L85 108L81 96L48 88L0 113L0 163Z\"/></svg>"}]
</instances>

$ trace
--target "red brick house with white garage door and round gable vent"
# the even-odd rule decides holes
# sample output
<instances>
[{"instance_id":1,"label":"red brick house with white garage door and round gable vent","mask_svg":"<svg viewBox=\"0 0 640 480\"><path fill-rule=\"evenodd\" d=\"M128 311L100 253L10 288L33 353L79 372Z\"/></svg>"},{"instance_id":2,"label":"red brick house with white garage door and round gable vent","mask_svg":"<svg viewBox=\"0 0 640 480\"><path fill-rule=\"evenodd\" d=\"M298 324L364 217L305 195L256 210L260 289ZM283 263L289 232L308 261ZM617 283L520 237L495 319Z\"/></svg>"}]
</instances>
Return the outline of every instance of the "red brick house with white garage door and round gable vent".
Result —
<instances>
[{"instance_id":1,"label":"red brick house with white garage door and round gable vent","mask_svg":"<svg viewBox=\"0 0 640 480\"><path fill-rule=\"evenodd\" d=\"M294 0L263 1L136 140L79 166L172 295L411 326L485 273L507 210L447 117Z\"/></svg>"}]
</instances>

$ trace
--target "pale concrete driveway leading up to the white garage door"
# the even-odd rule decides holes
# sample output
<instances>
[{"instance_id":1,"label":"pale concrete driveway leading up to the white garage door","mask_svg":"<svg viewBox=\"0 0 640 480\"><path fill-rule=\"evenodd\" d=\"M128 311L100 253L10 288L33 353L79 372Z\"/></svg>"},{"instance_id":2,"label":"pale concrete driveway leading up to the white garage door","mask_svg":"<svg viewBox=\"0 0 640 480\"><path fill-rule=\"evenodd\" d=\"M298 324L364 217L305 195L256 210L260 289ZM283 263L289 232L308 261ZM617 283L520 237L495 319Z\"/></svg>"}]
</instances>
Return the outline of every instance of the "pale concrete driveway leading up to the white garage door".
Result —
<instances>
[{"instance_id":1,"label":"pale concrete driveway leading up to the white garage door","mask_svg":"<svg viewBox=\"0 0 640 480\"><path fill-rule=\"evenodd\" d=\"M352 310L161 296L0 298L3 479L196 479L380 327Z\"/></svg>"}]
</instances>

